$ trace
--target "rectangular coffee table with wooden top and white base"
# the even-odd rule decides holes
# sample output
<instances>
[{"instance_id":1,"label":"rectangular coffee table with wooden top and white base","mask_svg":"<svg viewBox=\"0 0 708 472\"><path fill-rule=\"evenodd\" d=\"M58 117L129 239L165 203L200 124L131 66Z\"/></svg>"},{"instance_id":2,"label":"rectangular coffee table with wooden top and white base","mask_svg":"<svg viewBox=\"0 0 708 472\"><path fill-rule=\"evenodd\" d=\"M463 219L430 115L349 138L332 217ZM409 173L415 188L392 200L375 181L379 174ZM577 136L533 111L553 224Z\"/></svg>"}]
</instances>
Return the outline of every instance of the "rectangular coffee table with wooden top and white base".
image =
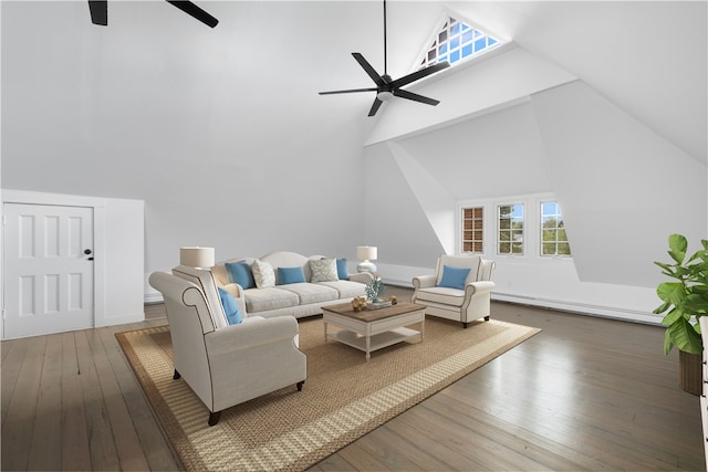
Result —
<instances>
[{"instance_id":1,"label":"rectangular coffee table with wooden top and white base","mask_svg":"<svg viewBox=\"0 0 708 472\"><path fill-rule=\"evenodd\" d=\"M366 353L366 361L372 352L402 343L420 335L425 337L425 306L415 303L398 303L385 308L355 312L348 303L322 307L324 342L333 339ZM420 331L406 326L420 324ZM329 333L329 325L340 331Z\"/></svg>"}]
</instances>

